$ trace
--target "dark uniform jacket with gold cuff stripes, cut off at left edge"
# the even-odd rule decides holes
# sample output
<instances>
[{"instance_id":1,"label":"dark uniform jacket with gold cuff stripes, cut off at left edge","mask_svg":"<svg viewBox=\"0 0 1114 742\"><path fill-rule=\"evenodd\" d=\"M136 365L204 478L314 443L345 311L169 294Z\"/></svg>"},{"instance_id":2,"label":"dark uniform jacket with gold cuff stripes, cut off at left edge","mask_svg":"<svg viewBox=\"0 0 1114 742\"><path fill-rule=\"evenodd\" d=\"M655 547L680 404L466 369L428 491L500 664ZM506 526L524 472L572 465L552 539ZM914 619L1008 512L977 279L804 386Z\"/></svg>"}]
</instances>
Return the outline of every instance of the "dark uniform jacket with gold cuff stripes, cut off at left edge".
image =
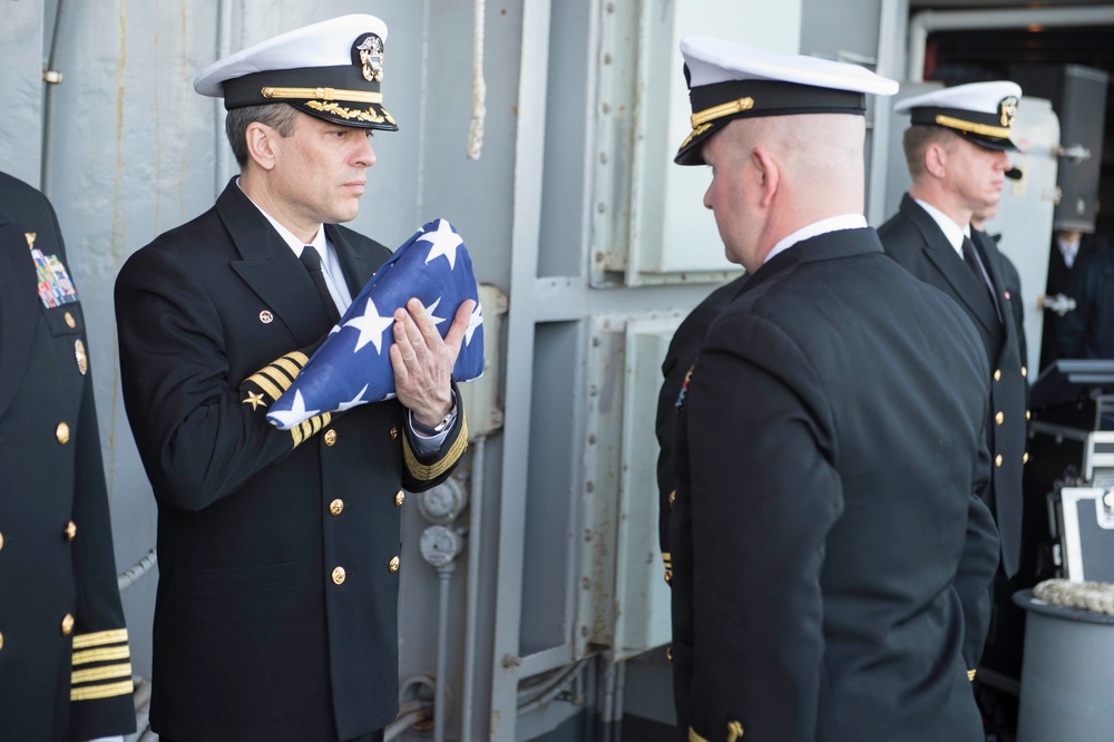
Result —
<instances>
[{"instance_id":1,"label":"dark uniform jacket with gold cuff stripes, cut off at left edge","mask_svg":"<svg viewBox=\"0 0 1114 742\"><path fill-rule=\"evenodd\" d=\"M0 740L89 740L135 729L130 656L85 314L39 300L31 242L71 273L47 198L0 173Z\"/></svg>"}]
</instances>

